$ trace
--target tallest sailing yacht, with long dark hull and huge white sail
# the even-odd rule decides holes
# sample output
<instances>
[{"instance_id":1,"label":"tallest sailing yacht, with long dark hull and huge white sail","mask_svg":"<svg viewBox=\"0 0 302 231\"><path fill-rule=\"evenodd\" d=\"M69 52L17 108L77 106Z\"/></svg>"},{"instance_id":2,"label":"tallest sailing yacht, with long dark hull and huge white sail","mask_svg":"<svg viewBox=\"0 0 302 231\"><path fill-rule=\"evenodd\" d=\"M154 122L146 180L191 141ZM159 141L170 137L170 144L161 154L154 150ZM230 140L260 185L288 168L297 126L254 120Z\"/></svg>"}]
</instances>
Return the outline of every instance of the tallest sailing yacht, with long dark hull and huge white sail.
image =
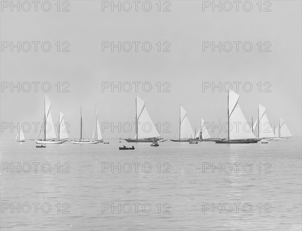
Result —
<instances>
[{"instance_id":1,"label":"tallest sailing yacht, with long dark hull and huge white sail","mask_svg":"<svg viewBox=\"0 0 302 231\"><path fill-rule=\"evenodd\" d=\"M215 140L216 143L226 144L248 144L257 143L260 138L255 138L252 130L246 130L247 120L239 106L238 100L240 95L229 90L228 93L228 138ZM237 125L239 123L239 128ZM230 129L230 125L232 129Z\"/></svg>"}]
</instances>

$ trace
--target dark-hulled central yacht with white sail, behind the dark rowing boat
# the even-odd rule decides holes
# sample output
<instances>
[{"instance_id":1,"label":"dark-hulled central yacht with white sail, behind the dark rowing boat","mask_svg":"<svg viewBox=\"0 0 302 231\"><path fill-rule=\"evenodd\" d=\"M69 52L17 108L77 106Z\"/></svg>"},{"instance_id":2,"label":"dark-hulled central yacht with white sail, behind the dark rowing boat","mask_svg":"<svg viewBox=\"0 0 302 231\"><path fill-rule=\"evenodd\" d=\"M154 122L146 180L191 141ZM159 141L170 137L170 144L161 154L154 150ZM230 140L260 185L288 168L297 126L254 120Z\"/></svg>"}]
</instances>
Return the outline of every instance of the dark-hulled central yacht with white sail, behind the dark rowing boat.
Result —
<instances>
[{"instance_id":1,"label":"dark-hulled central yacht with white sail, behind the dark rowing boat","mask_svg":"<svg viewBox=\"0 0 302 231\"><path fill-rule=\"evenodd\" d=\"M134 139L125 139L127 142L153 142L161 141L160 134L157 131L150 115L145 107L145 101L136 96L135 99L135 137Z\"/></svg>"}]
</instances>

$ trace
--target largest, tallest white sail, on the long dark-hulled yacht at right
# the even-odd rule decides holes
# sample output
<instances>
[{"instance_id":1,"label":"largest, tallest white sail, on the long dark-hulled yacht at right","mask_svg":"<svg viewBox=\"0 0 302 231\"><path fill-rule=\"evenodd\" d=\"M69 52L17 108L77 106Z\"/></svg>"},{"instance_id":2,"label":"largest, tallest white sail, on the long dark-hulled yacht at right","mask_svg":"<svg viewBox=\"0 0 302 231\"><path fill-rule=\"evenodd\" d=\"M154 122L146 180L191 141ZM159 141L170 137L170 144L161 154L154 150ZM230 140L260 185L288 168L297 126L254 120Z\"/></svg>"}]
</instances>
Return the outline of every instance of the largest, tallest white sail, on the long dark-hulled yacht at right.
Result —
<instances>
[{"instance_id":1,"label":"largest, tallest white sail, on the long dark-hulled yacht at right","mask_svg":"<svg viewBox=\"0 0 302 231\"><path fill-rule=\"evenodd\" d=\"M252 132L239 104L239 95L234 91L229 92L229 134L230 140L253 139Z\"/></svg>"}]
</instances>

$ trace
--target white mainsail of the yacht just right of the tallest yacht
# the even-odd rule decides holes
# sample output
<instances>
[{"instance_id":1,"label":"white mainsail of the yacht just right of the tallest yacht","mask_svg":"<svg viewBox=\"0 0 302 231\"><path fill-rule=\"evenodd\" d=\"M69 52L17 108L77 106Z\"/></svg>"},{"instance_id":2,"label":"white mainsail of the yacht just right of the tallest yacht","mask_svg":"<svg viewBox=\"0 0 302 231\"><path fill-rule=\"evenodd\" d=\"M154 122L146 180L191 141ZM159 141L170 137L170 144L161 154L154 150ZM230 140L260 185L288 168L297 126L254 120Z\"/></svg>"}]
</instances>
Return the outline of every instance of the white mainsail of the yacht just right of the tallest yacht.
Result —
<instances>
[{"instance_id":1,"label":"white mainsail of the yacht just right of the tallest yacht","mask_svg":"<svg viewBox=\"0 0 302 231\"><path fill-rule=\"evenodd\" d=\"M275 137L275 134L267 119L265 110L266 108L259 104L259 132L256 136L258 137L259 135L259 138L273 138Z\"/></svg>"}]
</instances>

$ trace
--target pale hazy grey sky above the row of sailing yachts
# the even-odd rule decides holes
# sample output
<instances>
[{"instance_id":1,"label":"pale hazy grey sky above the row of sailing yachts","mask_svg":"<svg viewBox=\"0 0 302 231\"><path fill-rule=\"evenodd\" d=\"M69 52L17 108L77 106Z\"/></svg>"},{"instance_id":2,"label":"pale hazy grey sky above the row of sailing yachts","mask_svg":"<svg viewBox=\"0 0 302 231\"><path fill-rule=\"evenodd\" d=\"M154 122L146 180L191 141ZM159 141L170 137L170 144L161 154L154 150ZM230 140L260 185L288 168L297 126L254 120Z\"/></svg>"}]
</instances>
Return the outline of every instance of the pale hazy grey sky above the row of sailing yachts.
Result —
<instances>
[{"instance_id":1,"label":"pale hazy grey sky above the row of sailing yachts","mask_svg":"<svg viewBox=\"0 0 302 231\"><path fill-rule=\"evenodd\" d=\"M85 133L90 137L93 132L95 105L98 107L101 122L124 123L128 121L131 110L135 110L135 96L146 101L146 107L154 123L171 124L170 133L162 133L163 137L173 138L179 123L179 104L188 112L193 127L200 126L200 118L206 122L218 122L226 113L227 95L219 89L205 89L204 82L242 82L238 93L239 102L248 119L257 117L258 103L266 107L266 113L271 123L285 119L293 135L301 136L301 2L271 1L271 12L259 12L258 1L253 2L250 12L239 6L239 11L231 12L211 8L202 11L202 1L170 1L170 12L159 12L158 1L152 2L152 10L145 12L141 5L135 12L132 3L130 12L114 12L110 8L102 11L102 1L69 1L69 12L58 12L56 1L51 2L49 12L32 9L29 12L4 8L1 13L1 81L17 82L49 82L52 86L47 93L52 101L51 112L54 123L58 121L58 111L65 114L65 122L70 124L71 138L79 138L80 106L83 107ZM111 2L111 1L110 1ZM211 1L210 1L211 2ZM9 1L10 3L10 1ZM103 3L104 4L104 3ZM67 6L67 5L65 5ZM161 5L161 10L168 4ZM27 6L23 6L24 9ZM60 11L64 6L60 6ZM127 6L124 6L127 7ZM225 6L226 7L226 6ZM235 4L233 8L236 7ZM46 6L45 6L46 8ZM147 8L147 5L145 5ZM20 52L7 43L17 44L29 41L31 50ZM39 41L37 52L32 41ZM52 46L49 52L41 49L41 43L48 41ZM69 42L70 52L58 52ZM102 41L114 41L118 44L129 41L141 42L135 52L111 52L111 48L102 51ZM143 51L141 44L148 41L152 50ZM158 52L169 42L170 52ZM218 44L225 41L240 41L239 51L235 43L230 52L214 52L211 48L203 52L203 41L215 41ZM250 52L244 51L244 42L253 44ZM258 42L261 42L259 52ZM264 43L268 42L268 43ZM66 43L65 43L66 44ZM260 44L260 43L258 43ZM271 52L263 52L267 46ZM47 46L45 46L47 48ZM147 46L145 46L148 48ZM248 46L246 46L249 48ZM24 43L24 49L27 45ZM125 49L128 46L125 46ZM226 46L229 48L229 46ZM150 92L144 92L138 85L132 85L130 92L114 92L105 89L102 92L102 82L150 82L153 86ZM68 82L70 92L57 92L55 84ZM161 92L158 92L158 82L161 82ZM162 92L168 85L171 92ZM244 91L242 85L250 82L253 90ZM262 88L259 92L259 82ZM269 82L264 85L264 82ZM258 85L257 85L258 84ZM25 85L24 85L25 86ZM18 92L10 88L1 92L1 122L17 123L35 122L42 118L44 92L34 85L30 92ZM235 84L233 85L235 87ZM271 92L263 92L266 87ZM125 86L126 87L126 86ZM26 87L27 88L27 87ZM128 88L128 87L127 87ZM133 121L134 112L129 119ZM13 140L16 137L10 129L2 133L3 140ZM117 129L112 133L106 129L103 137L120 137ZM25 138L32 137L32 132ZM133 137L133 135L132 135ZM32 137L33 138L33 137Z\"/></svg>"}]
</instances>

